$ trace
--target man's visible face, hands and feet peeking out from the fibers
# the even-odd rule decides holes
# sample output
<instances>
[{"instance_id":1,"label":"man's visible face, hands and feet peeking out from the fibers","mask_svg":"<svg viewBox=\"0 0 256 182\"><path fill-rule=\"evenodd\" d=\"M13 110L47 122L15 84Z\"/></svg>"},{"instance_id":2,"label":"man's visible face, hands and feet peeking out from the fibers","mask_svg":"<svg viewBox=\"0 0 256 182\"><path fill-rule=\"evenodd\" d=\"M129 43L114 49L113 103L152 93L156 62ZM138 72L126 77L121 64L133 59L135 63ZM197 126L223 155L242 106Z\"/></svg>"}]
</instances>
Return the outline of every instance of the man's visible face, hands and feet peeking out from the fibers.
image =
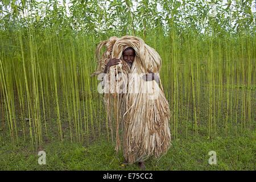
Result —
<instances>
[{"instance_id":1,"label":"man's visible face, hands and feet peeking out from the fibers","mask_svg":"<svg viewBox=\"0 0 256 182\"><path fill-rule=\"evenodd\" d=\"M126 61L126 63L129 65L129 67L131 68L132 65L133 65L133 61L135 59L135 51L133 48L131 47L128 47L126 48L124 51L123 51L123 60ZM105 70L104 70L104 73L106 73L108 71L108 69L110 67L112 67L113 65L117 65L121 63L121 60L119 59L116 59L116 58L113 58L113 59L110 59L109 62L106 64L106 67L105 67ZM149 73L152 73L151 71L148 70ZM143 80L145 81L151 81L151 80L156 80L158 79L158 75L155 75L154 73L152 74L146 74L146 75L143 75L142 76ZM125 162L126 163L126 162ZM139 162L139 167L141 167L142 170L145 170L146 169L146 166L144 164L144 162Z\"/></svg>"}]
</instances>

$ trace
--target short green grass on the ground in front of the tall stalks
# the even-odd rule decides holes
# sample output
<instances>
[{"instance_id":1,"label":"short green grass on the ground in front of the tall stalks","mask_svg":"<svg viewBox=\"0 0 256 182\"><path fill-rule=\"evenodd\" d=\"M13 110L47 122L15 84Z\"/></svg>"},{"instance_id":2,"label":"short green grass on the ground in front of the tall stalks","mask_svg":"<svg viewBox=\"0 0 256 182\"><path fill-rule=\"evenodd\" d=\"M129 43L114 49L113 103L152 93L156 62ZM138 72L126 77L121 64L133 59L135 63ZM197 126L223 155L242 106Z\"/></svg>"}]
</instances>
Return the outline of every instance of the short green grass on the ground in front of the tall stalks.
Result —
<instances>
[{"instance_id":1,"label":"short green grass on the ground in front of the tall stalks","mask_svg":"<svg viewBox=\"0 0 256 182\"><path fill-rule=\"evenodd\" d=\"M11 144L1 139L1 170L139 170L136 164L122 166L122 152L105 139L82 143L44 143L31 150L30 144ZM147 170L255 170L255 135L176 139L166 155L146 161ZM38 151L46 152L46 165L38 164ZM208 164L209 151L216 151L217 165Z\"/></svg>"}]
</instances>

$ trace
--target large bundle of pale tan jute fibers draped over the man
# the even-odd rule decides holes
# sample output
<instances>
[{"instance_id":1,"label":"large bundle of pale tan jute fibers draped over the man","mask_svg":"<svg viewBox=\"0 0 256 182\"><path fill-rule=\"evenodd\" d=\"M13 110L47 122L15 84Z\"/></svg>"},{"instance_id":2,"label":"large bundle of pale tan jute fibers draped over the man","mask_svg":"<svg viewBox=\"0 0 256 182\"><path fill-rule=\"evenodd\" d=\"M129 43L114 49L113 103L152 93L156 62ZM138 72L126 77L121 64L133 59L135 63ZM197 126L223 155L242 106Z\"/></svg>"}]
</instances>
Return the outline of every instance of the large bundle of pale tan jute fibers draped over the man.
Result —
<instances>
[{"instance_id":1,"label":"large bundle of pale tan jute fibers draped over the man","mask_svg":"<svg viewBox=\"0 0 256 182\"><path fill-rule=\"evenodd\" d=\"M101 56L104 46L106 51ZM128 47L136 52L131 68L122 58L122 52ZM142 39L123 36L101 42L96 56L98 68L93 75L104 73L110 58L122 60L121 64L109 68L103 80L104 89L108 89L105 90L104 101L112 134L113 124L115 126L115 150L121 150L122 143L123 155L129 163L165 154L171 145L169 104L160 79L159 83L142 79L148 71L160 72L159 54Z\"/></svg>"}]
</instances>

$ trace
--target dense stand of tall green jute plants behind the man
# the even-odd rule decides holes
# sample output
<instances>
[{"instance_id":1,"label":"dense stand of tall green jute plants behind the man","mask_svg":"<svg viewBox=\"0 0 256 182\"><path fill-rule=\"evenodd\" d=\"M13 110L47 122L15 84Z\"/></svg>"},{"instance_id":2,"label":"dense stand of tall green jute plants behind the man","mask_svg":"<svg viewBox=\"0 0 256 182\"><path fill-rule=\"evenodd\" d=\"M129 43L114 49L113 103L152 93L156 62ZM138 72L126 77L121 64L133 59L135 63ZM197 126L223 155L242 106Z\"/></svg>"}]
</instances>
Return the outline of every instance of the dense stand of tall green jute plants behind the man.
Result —
<instances>
[{"instance_id":1,"label":"dense stand of tall green jute plants behind the man","mask_svg":"<svg viewBox=\"0 0 256 182\"><path fill-rule=\"evenodd\" d=\"M173 139L252 132L255 1L1 1L1 133L14 142L113 140L94 50L135 35L162 57Z\"/></svg>"}]
</instances>

